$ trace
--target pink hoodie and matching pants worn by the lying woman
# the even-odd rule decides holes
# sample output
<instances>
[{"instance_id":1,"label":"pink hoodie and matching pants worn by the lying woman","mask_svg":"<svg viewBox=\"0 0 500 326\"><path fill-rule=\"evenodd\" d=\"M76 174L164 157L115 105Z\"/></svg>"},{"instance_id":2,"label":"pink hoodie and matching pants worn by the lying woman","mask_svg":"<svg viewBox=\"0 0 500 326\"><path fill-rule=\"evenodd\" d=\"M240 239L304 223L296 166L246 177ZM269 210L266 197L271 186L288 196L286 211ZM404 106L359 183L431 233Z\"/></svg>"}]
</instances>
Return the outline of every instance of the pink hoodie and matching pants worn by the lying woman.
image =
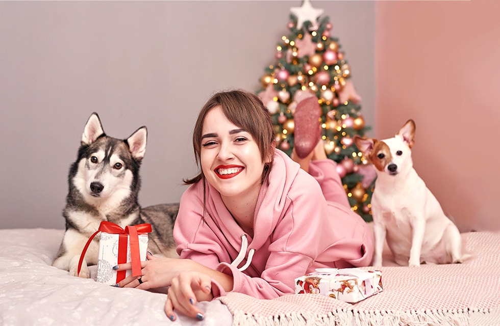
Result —
<instances>
[{"instance_id":1,"label":"pink hoodie and matching pants worn by the lying woman","mask_svg":"<svg viewBox=\"0 0 500 326\"><path fill-rule=\"evenodd\" d=\"M315 268L369 265L373 235L351 211L335 162L313 161L310 173L314 177L276 150L257 201L253 239L211 185L205 212L203 182L191 185L173 230L181 258L232 275L235 292L266 299L293 293L295 278ZM224 294L219 286L214 295L219 291Z\"/></svg>"}]
</instances>

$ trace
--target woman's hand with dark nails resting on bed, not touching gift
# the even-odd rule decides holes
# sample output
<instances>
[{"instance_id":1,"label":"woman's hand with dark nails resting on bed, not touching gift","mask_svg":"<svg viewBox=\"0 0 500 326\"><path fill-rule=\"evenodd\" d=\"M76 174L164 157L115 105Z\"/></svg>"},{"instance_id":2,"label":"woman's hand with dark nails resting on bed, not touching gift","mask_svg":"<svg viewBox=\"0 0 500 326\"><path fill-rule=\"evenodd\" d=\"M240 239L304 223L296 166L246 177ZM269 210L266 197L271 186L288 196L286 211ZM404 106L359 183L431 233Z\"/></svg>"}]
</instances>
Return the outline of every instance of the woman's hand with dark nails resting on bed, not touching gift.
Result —
<instances>
[{"instance_id":1,"label":"woman's hand with dark nails resting on bed, not touching gift","mask_svg":"<svg viewBox=\"0 0 500 326\"><path fill-rule=\"evenodd\" d=\"M186 316L203 319L204 315L196 303L212 300L210 276L199 271L185 271L172 278L165 303L165 314L171 320L177 318L173 309Z\"/></svg>"}]
</instances>

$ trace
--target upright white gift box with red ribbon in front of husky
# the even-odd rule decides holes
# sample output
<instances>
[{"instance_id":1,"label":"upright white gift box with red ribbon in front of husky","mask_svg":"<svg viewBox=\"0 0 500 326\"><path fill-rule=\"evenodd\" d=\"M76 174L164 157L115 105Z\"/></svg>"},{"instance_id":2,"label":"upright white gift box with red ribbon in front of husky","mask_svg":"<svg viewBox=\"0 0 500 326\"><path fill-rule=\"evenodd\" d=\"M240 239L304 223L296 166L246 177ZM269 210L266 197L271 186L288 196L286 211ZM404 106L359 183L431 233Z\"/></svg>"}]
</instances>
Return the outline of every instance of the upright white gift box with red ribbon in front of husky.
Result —
<instances>
[{"instance_id":1,"label":"upright white gift box with red ribbon in front of husky","mask_svg":"<svg viewBox=\"0 0 500 326\"><path fill-rule=\"evenodd\" d=\"M147 233L151 232L150 224L126 226L103 221L97 231L89 238L80 256L78 274L85 257L85 253L92 239L101 232L99 239L99 256L97 262L96 281L115 285L124 278L141 275L141 261L146 260ZM113 266L123 263L132 263L132 269L113 270Z\"/></svg>"}]
</instances>

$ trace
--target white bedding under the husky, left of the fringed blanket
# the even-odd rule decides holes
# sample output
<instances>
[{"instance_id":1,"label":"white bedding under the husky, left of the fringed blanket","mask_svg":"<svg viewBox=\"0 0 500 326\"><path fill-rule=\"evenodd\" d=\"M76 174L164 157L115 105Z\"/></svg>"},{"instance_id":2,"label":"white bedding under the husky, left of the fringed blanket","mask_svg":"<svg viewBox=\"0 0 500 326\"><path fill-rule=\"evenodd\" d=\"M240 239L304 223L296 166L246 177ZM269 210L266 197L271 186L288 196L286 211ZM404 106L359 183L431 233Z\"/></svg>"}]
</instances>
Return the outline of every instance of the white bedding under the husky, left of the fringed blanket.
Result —
<instances>
[{"instance_id":1,"label":"white bedding under the husky, left of the fringed blanket","mask_svg":"<svg viewBox=\"0 0 500 326\"><path fill-rule=\"evenodd\" d=\"M165 294L115 288L52 267L63 230L0 230L0 325L231 325L219 301L200 303L205 319L163 312Z\"/></svg>"}]
</instances>

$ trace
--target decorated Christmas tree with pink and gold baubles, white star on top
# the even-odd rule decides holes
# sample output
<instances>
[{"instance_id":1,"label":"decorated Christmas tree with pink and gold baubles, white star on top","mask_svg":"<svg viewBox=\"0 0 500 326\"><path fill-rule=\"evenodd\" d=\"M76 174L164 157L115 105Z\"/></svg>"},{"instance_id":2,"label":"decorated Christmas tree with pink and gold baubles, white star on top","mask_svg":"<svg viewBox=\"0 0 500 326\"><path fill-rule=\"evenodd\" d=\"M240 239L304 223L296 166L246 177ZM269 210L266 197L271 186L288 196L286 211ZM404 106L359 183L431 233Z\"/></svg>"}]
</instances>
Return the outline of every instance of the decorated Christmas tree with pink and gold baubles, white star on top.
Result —
<instances>
[{"instance_id":1,"label":"decorated Christmas tree with pink and gold baubles, white star on top","mask_svg":"<svg viewBox=\"0 0 500 326\"><path fill-rule=\"evenodd\" d=\"M371 221L370 199L375 172L353 141L369 127L360 112L361 97L348 80L351 67L338 39L331 36L329 17L319 16L309 0L291 8L288 35L277 45L276 62L265 69L257 94L272 115L277 147L291 154L294 109L304 92L314 94L321 106L324 149L337 162L337 172L353 211Z\"/></svg>"}]
</instances>

